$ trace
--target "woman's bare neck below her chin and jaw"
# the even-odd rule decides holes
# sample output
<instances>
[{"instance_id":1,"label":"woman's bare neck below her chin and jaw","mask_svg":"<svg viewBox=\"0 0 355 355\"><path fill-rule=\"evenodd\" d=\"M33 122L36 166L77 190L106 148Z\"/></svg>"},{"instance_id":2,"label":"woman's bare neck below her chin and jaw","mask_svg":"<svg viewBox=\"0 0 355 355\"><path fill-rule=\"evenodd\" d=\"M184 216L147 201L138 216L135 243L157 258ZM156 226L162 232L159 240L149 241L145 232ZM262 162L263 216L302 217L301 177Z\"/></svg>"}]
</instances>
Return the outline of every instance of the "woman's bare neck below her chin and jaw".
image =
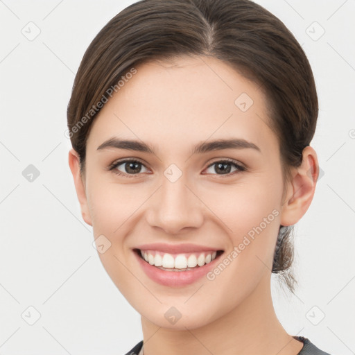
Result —
<instances>
[{"instance_id":1,"label":"woman's bare neck below her chin and jaw","mask_svg":"<svg viewBox=\"0 0 355 355\"><path fill-rule=\"evenodd\" d=\"M297 355L303 343L280 324L272 305L270 273L230 312L203 327L174 330L141 317L144 355Z\"/></svg>"}]
</instances>

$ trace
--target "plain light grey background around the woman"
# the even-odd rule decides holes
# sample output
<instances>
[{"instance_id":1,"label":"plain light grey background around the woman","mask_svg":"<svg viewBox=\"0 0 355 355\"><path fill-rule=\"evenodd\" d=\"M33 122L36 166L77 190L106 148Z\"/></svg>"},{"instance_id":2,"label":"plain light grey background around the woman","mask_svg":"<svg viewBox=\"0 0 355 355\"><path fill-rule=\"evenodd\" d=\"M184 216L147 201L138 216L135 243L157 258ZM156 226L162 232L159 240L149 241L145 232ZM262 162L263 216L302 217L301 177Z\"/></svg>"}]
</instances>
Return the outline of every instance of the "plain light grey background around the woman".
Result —
<instances>
[{"instance_id":1,"label":"plain light grey background around the woman","mask_svg":"<svg viewBox=\"0 0 355 355\"><path fill-rule=\"evenodd\" d=\"M85 49L133 2L0 0L0 354L125 354L142 339L139 314L92 246L64 136ZM295 228L300 287L291 296L273 280L275 309L289 334L354 354L355 1L257 3L302 44L320 100L311 146L324 175ZM30 21L40 29L31 40ZM22 174L29 164L40 171L33 182ZM40 313L33 325L29 306Z\"/></svg>"}]
</instances>

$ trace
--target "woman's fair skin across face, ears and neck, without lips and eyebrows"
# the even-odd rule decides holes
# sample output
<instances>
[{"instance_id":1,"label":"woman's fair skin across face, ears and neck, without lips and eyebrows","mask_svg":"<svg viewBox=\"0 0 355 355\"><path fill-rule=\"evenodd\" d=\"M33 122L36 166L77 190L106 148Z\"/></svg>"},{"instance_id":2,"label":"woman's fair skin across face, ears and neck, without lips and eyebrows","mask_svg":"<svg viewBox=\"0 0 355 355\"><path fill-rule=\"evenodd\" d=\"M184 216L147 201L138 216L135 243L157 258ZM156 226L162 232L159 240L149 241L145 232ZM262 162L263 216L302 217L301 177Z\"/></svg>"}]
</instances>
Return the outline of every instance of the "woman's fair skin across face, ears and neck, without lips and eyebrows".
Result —
<instances>
[{"instance_id":1,"label":"woman's fair skin across face, ears and neck, without lips and eyebrows","mask_svg":"<svg viewBox=\"0 0 355 355\"><path fill-rule=\"evenodd\" d=\"M95 118L87 139L85 174L78 154L69 151L83 218L94 237L111 247L98 254L119 291L141 314L144 354L296 355L303 344L279 323L272 305L270 276L279 225L293 225L311 204L318 159L310 146L303 162L284 184L277 136L268 126L267 98L259 85L229 64L207 57L180 57L136 67ZM247 93L253 105L242 112L234 103ZM146 152L107 148L112 137L138 139L155 146ZM243 138L257 150L223 149L191 155L211 139ZM142 162L134 174L118 159ZM234 159L247 167L229 175L211 165ZM176 181L164 171L175 164ZM202 173L203 172L203 173ZM311 173L310 173L311 172ZM283 198L284 197L284 198ZM196 243L230 254L263 218L278 216L213 281L162 286L146 276L132 248L143 243ZM171 324L164 313L174 306L181 318Z\"/></svg>"}]
</instances>

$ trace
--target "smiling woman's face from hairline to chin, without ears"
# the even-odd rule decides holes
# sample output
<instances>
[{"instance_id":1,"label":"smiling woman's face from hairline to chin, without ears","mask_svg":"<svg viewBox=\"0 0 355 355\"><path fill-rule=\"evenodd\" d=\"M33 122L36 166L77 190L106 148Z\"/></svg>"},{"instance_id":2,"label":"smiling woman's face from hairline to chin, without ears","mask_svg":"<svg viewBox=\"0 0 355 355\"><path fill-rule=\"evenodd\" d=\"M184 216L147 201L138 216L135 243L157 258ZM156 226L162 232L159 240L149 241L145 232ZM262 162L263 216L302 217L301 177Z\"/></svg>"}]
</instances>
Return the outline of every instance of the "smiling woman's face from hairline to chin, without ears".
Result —
<instances>
[{"instance_id":1,"label":"smiling woman's face from hairline to chin, without ears","mask_svg":"<svg viewBox=\"0 0 355 355\"><path fill-rule=\"evenodd\" d=\"M224 62L136 69L89 133L83 216L128 302L159 327L193 329L267 292L282 224L278 141L266 96ZM187 261L199 264L171 270Z\"/></svg>"}]
</instances>

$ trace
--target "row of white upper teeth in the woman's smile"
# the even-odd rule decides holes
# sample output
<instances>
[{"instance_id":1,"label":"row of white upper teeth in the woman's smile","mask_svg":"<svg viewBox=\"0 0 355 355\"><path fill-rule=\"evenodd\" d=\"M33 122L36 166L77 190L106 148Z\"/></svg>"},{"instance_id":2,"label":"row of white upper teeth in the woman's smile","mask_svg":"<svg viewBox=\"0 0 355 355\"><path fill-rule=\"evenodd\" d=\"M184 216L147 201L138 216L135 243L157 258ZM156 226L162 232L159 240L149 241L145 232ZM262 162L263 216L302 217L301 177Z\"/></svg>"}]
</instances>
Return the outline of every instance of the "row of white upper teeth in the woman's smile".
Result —
<instances>
[{"instance_id":1,"label":"row of white upper teeth in the woman's smile","mask_svg":"<svg viewBox=\"0 0 355 355\"><path fill-rule=\"evenodd\" d=\"M140 251L141 256L145 261L157 267L163 268L175 268L175 269L187 269L195 268L196 266L204 266L205 263L210 263L216 259L217 252L200 252L198 254L190 254L189 257L185 257L185 254L178 254L173 257L172 254L164 253L163 257L159 252L155 252L155 255L150 251ZM189 269L188 269L189 270Z\"/></svg>"}]
</instances>

